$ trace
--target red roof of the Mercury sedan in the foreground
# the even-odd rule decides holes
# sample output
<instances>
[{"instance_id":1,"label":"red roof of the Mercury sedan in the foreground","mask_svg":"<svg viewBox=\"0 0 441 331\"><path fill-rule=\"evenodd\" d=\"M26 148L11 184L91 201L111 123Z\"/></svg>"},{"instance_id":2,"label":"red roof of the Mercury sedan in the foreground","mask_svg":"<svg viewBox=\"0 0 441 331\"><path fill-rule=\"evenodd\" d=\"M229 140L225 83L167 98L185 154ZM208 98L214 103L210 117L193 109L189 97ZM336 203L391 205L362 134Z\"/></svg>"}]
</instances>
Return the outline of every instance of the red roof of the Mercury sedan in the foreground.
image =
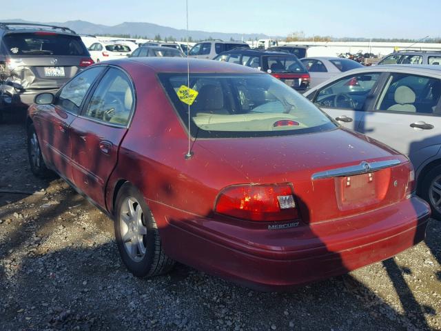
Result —
<instances>
[{"instance_id":1,"label":"red roof of the Mercury sedan in the foreground","mask_svg":"<svg viewBox=\"0 0 441 331\"><path fill-rule=\"evenodd\" d=\"M148 66L155 72L187 73L187 61L191 73L235 73L235 74L265 74L260 70L247 66L222 61L187 59L179 57L130 57L127 59L105 61L116 66L130 66L130 63Z\"/></svg>"}]
</instances>

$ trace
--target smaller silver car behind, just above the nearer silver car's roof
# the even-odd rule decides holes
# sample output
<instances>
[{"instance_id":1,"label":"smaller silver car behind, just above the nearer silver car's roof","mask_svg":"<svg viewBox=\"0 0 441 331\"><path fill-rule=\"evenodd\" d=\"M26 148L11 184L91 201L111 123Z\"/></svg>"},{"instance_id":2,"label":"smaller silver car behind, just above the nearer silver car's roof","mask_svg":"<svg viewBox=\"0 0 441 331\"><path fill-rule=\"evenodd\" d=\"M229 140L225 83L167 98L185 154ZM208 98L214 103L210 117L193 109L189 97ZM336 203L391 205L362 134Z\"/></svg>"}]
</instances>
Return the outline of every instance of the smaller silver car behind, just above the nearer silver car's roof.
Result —
<instances>
[{"instance_id":1,"label":"smaller silver car behind, just above the nearer silver car's roof","mask_svg":"<svg viewBox=\"0 0 441 331\"><path fill-rule=\"evenodd\" d=\"M302 61L303 66L309 71L309 75L311 76L309 86L311 86L311 88L332 77L336 77L342 72L364 68L357 61L342 59L341 57L305 57L300 59L300 61Z\"/></svg>"}]
</instances>

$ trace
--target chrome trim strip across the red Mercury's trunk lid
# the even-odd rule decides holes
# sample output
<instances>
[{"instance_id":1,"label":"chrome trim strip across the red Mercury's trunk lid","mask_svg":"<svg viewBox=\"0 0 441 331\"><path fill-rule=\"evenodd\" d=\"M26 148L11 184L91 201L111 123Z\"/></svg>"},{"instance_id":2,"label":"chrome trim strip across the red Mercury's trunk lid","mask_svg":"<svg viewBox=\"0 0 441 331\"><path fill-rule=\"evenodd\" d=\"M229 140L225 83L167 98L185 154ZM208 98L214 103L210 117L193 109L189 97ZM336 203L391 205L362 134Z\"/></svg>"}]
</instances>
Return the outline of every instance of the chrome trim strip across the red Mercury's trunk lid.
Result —
<instances>
[{"instance_id":1,"label":"chrome trim strip across the red Mercury's trunk lid","mask_svg":"<svg viewBox=\"0 0 441 331\"><path fill-rule=\"evenodd\" d=\"M315 174L312 174L311 179L314 180L314 179L324 179L324 178L332 178L332 177L353 176L356 174L366 174L367 172L373 172L380 169L389 168L393 165L398 165L400 163L401 161L397 159L387 160L387 161L375 161L370 163L366 161L362 161L362 163L358 165L350 165L349 167L316 172Z\"/></svg>"}]
</instances>

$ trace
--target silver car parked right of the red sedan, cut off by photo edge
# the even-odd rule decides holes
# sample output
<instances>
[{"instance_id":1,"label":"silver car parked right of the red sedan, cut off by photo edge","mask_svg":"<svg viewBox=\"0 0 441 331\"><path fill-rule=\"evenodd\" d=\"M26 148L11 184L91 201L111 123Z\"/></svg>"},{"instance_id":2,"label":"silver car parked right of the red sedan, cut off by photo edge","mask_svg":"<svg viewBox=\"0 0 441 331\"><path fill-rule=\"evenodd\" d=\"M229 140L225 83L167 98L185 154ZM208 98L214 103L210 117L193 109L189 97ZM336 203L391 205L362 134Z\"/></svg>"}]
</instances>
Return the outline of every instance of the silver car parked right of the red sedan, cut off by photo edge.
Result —
<instances>
[{"instance_id":1,"label":"silver car parked right of the red sedan, cut off by photo edge","mask_svg":"<svg viewBox=\"0 0 441 331\"><path fill-rule=\"evenodd\" d=\"M441 220L441 67L374 66L351 70L305 92L342 126L411 159L417 194Z\"/></svg>"}]
</instances>

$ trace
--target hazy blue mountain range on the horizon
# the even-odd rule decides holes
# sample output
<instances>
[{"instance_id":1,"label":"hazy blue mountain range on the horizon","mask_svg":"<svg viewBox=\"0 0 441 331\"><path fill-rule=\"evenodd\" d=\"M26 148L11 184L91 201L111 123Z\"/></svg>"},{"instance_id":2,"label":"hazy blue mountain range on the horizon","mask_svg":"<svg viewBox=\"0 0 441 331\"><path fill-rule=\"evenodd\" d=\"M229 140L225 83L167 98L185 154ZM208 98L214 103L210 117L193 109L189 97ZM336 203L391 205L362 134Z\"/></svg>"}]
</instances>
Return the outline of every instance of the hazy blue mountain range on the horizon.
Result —
<instances>
[{"instance_id":1,"label":"hazy blue mountain range on the horizon","mask_svg":"<svg viewBox=\"0 0 441 331\"><path fill-rule=\"evenodd\" d=\"M42 23L37 21L23 21L22 19L5 19L2 22L14 23ZM159 26L153 23L143 22L124 22L116 26L104 26L102 24L95 24L88 21L67 21L67 22L49 22L42 24L50 24L54 26L63 26L70 28L79 34L93 34L93 35L128 35L130 37L141 37L146 39L154 39L156 35L162 38L173 37L176 40L185 39L187 37L187 30L170 28L168 26ZM268 39L267 34L240 34L240 33L225 33L225 32L206 32L199 30L189 30L189 37L193 40L202 39L223 39L223 40L254 40L254 39ZM273 37L276 38L276 37ZM280 38L280 37L278 37Z\"/></svg>"}]
</instances>

